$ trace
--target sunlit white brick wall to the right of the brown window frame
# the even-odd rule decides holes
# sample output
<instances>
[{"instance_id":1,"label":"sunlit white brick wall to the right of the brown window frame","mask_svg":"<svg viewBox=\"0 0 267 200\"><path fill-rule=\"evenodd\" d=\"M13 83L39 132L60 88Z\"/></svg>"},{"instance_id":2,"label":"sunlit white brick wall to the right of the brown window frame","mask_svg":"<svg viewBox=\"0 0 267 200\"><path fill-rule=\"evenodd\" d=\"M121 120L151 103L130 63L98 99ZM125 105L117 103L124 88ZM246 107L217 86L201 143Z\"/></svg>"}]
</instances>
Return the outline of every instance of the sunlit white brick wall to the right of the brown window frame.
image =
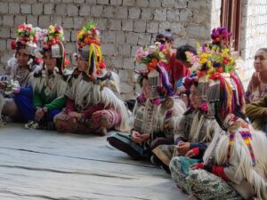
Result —
<instances>
[{"instance_id":1,"label":"sunlit white brick wall to the right of the brown window frame","mask_svg":"<svg viewBox=\"0 0 267 200\"><path fill-rule=\"evenodd\" d=\"M242 3L240 49L242 59L245 60L241 76L246 89L255 71L255 52L261 47L267 47L267 1L245 0Z\"/></svg>"}]
</instances>

